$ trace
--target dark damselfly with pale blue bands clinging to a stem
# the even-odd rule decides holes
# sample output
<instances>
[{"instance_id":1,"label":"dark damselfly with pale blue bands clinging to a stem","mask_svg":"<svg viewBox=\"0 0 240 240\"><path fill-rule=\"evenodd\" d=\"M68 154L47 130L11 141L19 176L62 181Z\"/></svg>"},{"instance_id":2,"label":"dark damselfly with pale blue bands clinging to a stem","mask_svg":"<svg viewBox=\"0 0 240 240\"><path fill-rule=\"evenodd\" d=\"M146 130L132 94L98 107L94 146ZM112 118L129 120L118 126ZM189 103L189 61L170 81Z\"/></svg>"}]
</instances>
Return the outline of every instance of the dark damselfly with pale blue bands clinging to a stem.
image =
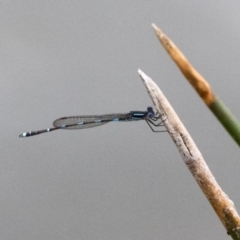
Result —
<instances>
[{"instance_id":1,"label":"dark damselfly with pale blue bands clinging to a stem","mask_svg":"<svg viewBox=\"0 0 240 240\"><path fill-rule=\"evenodd\" d=\"M166 130L155 131L153 129L152 126L163 126L163 121L159 113L155 113L152 107L148 107L147 111L131 111L129 113L63 117L55 120L53 122L54 127L52 128L25 132L19 135L19 137L31 137L37 134L51 132L58 129L84 129L97 127L109 122L132 122L139 120L145 120L153 132L166 132Z\"/></svg>"}]
</instances>

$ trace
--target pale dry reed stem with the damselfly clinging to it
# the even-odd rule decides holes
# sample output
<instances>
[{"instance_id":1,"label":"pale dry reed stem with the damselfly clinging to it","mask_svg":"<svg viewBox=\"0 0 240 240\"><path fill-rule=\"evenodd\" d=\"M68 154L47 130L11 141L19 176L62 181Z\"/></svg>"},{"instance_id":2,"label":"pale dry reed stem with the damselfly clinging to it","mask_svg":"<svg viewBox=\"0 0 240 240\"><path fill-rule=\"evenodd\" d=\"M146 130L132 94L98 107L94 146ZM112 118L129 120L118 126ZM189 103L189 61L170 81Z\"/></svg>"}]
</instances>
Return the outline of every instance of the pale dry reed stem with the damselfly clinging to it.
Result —
<instances>
[{"instance_id":1,"label":"pale dry reed stem with the damselfly clinging to it","mask_svg":"<svg viewBox=\"0 0 240 240\"><path fill-rule=\"evenodd\" d=\"M240 218L233 202L223 192L212 175L202 154L198 150L188 131L178 118L170 103L155 82L141 70L138 70L147 91L160 115L163 115L164 125L175 142L182 159L193 177L214 208L228 233L240 239Z\"/></svg>"}]
</instances>

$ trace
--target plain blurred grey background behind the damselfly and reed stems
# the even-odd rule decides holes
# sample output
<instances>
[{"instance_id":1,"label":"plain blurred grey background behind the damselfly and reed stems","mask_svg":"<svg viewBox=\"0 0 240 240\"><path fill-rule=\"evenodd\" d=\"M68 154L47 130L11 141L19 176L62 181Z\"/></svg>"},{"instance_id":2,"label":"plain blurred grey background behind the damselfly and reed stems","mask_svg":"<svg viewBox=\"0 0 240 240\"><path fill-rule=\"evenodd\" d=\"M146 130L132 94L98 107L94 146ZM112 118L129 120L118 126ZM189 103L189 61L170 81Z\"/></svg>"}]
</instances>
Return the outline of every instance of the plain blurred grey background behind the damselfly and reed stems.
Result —
<instances>
[{"instance_id":1,"label":"plain blurred grey background behind the damselfly and reed stems","mask_svg":"<svg viewBox=\"0 0 240 240\"><path fill-rule=\"evenodd\" d=\"M240 151L156 38L240 119L239 1L0 1L0 237L230 239L167 133L144 121L18 135L68 115L145 110L162 89L240 210Z\"/></svg>"}]
</instances>

